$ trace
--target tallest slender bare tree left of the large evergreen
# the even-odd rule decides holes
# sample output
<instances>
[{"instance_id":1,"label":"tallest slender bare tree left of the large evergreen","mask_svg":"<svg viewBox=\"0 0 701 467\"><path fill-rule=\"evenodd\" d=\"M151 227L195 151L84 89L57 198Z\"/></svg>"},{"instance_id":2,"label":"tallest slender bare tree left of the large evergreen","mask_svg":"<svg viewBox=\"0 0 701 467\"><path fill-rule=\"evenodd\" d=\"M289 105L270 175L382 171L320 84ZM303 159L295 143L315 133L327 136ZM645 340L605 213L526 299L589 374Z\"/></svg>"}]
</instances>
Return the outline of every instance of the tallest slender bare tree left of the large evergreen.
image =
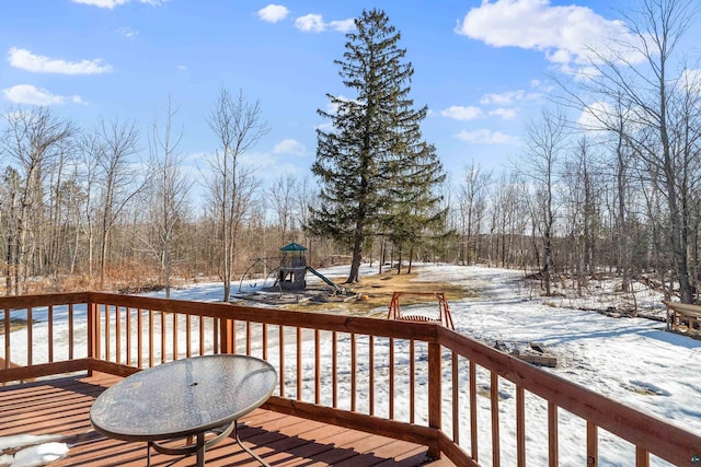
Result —
<instances>
[{"instance_id":1,"label":"tallest slender bare tree left of the large evergreen","mask_svg":"<svg viewBox=\"0 0 701 467\"><path fill-rule=\"evenodd\" d=\"M268 132L261 121L258 102L249 102L243 91L233 97L222 89L207 119L219 148L209 157L211 170L206 180L211 209L218 219L221 244L221 277L223 301L231 293L237 235L257 186L252 168L242 164L241 156Z\"/></svg>"}]
</instances>

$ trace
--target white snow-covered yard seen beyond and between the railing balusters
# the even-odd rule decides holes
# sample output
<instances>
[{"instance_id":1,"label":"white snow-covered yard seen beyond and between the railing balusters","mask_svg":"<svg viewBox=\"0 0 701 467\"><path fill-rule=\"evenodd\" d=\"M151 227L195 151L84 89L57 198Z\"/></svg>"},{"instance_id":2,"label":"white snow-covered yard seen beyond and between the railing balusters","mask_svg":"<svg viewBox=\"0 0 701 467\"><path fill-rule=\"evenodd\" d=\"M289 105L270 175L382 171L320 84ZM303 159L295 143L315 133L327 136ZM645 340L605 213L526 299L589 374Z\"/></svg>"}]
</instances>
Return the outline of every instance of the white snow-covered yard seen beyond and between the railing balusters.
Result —
<instances>
[{"instance_id":1,"label":"white snow-covered yard seen beyond and between the railing balusters","mask_svg":"<svg viewBox=\"0 0 701 467\"><path fill-rule=\"evenodd\" d=\"M458 332L490 346L495 340L543 342L549 351L558 357L558 367L548 371L701 434L701 341L666 332L665 324L659 322L644 318L612 318L590 311L564 307L563 302L553 302L533 293L532 288L524 281L522 271L451 265L421 265L416 270L418 271L417 290L421 289L422 281L446 281L460 284L476 295L450 302L450 311ZM327 268L321 272L326 277L338 279L347 275L347 267ZM377 269L369 268L367 265L361 269L361 275L374 272L377 272ZM317 278L310 278L310 282L313 280ZM263 285L253 281L248 282L244 283L243 291L256 290ZM235 290L234 287L233 291ZM221 293L220 283L199 283L174 290L171 297L220 301ZM148 295L163 296L163 293L156 292ZM642 306L645 300L648 301L650 306L659 308L660 297L646 295L643 299L641 296L639 306ZM402 310L406 314L435 315L436 304L403 306ZM382 307L381 311L376 310L368 314L383 315L386 312L387 307ZM45 318L42 313L41 310L36 310L34 318L38 320ZM54 313L55 317L65 316L65 311L58 308ZM77 325L84 327L84 317L79 316L80 311L76 313ZM44 337L41 336L41 324L35 326L34 340L41 340ZM64 338L65 334L57 329L55 341L60 342ZM0 349L3 339L4 337L0 336ZM13 347L21 349L23 340L25 342L26 332L22 330L12 332L11 339ZM340 353L348 352L345 342L340 342L338 349ZM292 350L289 353L292 354ZM276 352L272 351L271 354L275 355ZM304 354L311 355L307 351ZM359 355L359 360L363 360L361 357ZM13 360L19 359L13 355ZM18 362L21 363L21 361ZM38 362L35 360L35 363ZM376 362L378 366L381 364L382 362ZM309 366L313 366L311 360ZM378 373L381 373L381 370L378 370ZM398 376L402 380L406 375ZM489 374L482 372L478 381L480 387L489 386ZM422 381L417 383L425 384ZM398 385L401 384L401 381L398 382ZM304 386L306 393L313 390L313 381L306 382ZM444 394L449 394L449 390L446 388ZM502 384L499 395L503 396L499 407L508 413L515 405L513 386L508 383ZM360 400L364 396L367 395L360 394ZM376 397L381 405L382 399L387 398L386 388L378 386ZM397 397L400 398L399 395ZM529 401L533 398L536 396L530 396L530 399L527 396L529 407L527 455L528 465L540 466L547 465L547 410L542 404L529 406ZM398 407L397 418L403 419L406 405L402 407L400 400ZM480 427L485 429L490 427L489 407L489 397L479 397ZM422 413L417 416L423 418ZM503 465L514 465L515 460L510 453L515 450L515 423L508 417L502 420ZM467 423L467 417L464 421ZM450 427L449 411L444 413L444 423ZM582 447L586 446L583 441L584 422L561 412L560 432L561 465L585 465L585 453L581 452ZM462 425L461 444L468 446L469 437L466 436L469 436L469 427ZM599 465L631 465L634 459L632 446L620 440L611 440L607 433L600 433L600 439ZM568 451L566 446L570 444L577 446L577 451ZM489 431L480 432L481 464L490 465L490 433ZM655 458L651 464L666 465Z\"/></svg>"}]
</instances>

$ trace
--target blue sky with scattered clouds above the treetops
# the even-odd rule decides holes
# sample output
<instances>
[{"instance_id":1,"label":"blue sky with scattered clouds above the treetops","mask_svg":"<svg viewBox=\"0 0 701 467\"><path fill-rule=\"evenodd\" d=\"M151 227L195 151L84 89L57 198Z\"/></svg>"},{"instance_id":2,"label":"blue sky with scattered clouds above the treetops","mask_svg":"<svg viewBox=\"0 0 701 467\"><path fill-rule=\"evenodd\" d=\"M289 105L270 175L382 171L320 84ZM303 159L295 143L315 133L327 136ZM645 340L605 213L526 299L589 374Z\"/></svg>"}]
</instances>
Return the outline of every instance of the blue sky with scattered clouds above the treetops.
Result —
<instances>
[{"instance_id":1,"label":"blue sky with scattered clouds above the treetops","mask_svg":"<svg viewBox=\"0 0 701 467\"><path fill-rule=\"evenodd\" d=\"M333 60L363 9L384 10L414 65L412 97L446 170L501 167L524 152L524 122L576 78L588 47L624 37L639 0L2 0L0 101L50 105L91 128L135 121L146 136L168 96L189 163L216 149L206 117L221 87L258 100L271 128L249 163L267 180L309 174L326 93L348 95ZM697 22L699 23L699 22ZM699 55L700 27L688 36ZM141 147L147 150L146 138Z\"/></svg>"}]
</instances>

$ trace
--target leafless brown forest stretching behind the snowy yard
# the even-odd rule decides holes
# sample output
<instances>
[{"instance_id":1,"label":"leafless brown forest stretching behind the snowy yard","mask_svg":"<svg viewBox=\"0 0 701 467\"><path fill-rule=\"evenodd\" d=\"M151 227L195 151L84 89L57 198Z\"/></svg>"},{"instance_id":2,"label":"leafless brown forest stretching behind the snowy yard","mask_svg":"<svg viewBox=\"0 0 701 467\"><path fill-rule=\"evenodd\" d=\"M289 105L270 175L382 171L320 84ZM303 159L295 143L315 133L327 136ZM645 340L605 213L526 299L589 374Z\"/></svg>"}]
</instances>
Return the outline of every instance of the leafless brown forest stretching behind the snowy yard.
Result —
<instances>
[{"instance_id":1,"label":"leafless brown forest stretching behind the snowy yard","mask_svg":"<svg viewBox=\"0 0 701 467\"><path fill-rule=\"evenodd\" d=\"M441 187L445 225L411 245L374 236L366 260L401 253L404 262L524 268L540 271L547 294L559 277L585 283L610 273L623 288L645 278L697 300L701 73L676 48L693 3L662 3L633 19L639 43L601 54L586 80L558 83L559 97L531 118L507 166L485 170L464 154L464 172ZM264 186L242 163L268 130L257 102L222 89L202 118L217 150L195 173L184 165L175 102L150 124L105 119L92 128L49 107L7 108L2 291L168 288L216 277L226 299L258 258L269 259L250 273L275 266L289 242L306 245L315 266L349 253L303 229L318 202L314 179Z\"/></svg>"}]
</instances>

